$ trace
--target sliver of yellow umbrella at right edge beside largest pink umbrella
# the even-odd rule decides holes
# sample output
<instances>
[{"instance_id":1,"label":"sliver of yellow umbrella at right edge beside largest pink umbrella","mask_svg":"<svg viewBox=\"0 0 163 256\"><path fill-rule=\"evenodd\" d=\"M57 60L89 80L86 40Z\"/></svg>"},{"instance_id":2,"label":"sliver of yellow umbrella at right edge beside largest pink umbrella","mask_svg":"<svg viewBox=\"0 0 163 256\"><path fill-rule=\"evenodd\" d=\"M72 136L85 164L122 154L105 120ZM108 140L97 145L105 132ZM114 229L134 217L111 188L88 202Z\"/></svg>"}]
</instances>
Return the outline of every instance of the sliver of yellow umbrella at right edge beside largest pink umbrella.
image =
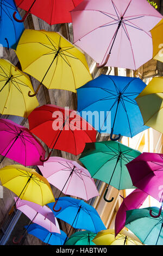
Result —
<instances>
[{"instance_id":1,"label":"sliver of yellow umbrella at right edge beside largest pink umbrella","mask_svg":"<svg viewBox=\"0 0 163 256\"><path fill-rule=\"evenodd\" d=\"M163 62L163 19L151 30L153 58Z\"/></svg>"}]
</instances>

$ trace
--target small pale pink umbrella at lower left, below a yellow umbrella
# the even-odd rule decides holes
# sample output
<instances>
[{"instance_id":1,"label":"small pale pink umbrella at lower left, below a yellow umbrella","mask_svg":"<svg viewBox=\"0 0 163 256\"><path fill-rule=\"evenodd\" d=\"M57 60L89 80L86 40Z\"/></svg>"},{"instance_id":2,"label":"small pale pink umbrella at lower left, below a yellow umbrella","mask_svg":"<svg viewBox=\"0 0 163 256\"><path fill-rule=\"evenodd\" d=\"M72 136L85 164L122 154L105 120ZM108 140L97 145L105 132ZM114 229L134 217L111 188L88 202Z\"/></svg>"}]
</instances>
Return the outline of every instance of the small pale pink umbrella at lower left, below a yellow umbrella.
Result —
<instances>
[{"instance_id":1,"label":"small pale pink umbrella at lower left, below a yellow umbrella","mask_svg":"<svg viewBox=\"0 0 163 256\"><path fill-rule=\"evenodd\" d=\"M39 204L35 204L27 200L21 200L18 197L15 197L15 202L16 202L16 208L22 211L23 214L25 214L31 220L30 224L33 222L38 225L41 225L41 227L43 228L46 228L51 233L60 234L60 228L59 228L57 218L55 218L52 210L49 209L46 205L41 206ZM26 231L24 231L24 233L26 233ZM20 237L20 239L17 242L15 242L15 237L14 237L13 242L19 243L22 240L23 236L24 234Z\"/></svg>"}]
</instances>

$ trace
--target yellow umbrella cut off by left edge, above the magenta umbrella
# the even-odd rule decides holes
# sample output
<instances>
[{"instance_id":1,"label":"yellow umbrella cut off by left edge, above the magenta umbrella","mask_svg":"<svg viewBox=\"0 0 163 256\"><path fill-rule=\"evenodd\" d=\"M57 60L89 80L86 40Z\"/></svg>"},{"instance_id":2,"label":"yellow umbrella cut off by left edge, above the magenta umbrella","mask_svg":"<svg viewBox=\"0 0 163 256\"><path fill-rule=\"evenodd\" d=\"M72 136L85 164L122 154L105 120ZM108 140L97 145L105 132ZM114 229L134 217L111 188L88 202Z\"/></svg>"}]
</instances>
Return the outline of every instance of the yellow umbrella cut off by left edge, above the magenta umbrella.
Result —
<instances>
[{"instance_id":1,"label":"yellow umbrella cut off by left edge, above the magenta umbrella","mask_svg":"<svg viewBox=\"0 0 163 256\"><path fill-rule=\"evenodd\" d=\"M33 90L29 77L9 60L0 59L0 113L27 118L39 102L28 97Z\"/></svg>"}]
</instances>

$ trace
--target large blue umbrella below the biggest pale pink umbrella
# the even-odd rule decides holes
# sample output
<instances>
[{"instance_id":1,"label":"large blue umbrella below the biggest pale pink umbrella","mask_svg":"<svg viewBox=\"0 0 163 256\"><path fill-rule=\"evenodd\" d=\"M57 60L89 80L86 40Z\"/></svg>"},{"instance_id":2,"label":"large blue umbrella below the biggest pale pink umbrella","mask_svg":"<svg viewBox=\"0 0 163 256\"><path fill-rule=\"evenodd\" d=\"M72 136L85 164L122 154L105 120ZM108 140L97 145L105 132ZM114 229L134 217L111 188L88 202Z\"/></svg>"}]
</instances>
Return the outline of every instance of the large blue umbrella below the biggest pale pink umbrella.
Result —
<instances>
[{"instance_id":1,"label":"large blue umbrella below the biggest pale pink umbrella","mask_svg":"<svg viewBox=\"0 0 163 256\"><path fill-rule=\"evenodd\" d=\"M135 101L145 87L146 84L137 77L101 75L77 89L78 112L99 133L110 133L110 138L114 141L120 139L121 135L133 137L148 129L148 126L143 125L142 115ZM91 114L87 114L89 111L93 113L92 120ZM105 114L102 115L102 112ZM108 124L107 129L104 129L107 117L110 118L110 132L107 131ZM112 134L118 134L117 138L113 139Z\"/></svg>"}]
</instances>

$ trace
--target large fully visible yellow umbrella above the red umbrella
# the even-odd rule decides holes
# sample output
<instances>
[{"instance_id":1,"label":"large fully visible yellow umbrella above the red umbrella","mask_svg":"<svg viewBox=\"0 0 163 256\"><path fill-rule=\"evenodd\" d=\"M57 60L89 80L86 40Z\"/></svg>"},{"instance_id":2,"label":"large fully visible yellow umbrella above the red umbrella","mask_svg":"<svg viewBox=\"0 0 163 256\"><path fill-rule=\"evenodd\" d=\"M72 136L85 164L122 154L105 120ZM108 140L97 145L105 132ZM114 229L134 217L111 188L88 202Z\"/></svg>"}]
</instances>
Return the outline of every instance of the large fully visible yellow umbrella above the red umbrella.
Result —
<instances>
[{"instance_id":1,"label":"large fully visible yellow umbrella above the red umbrella","mask_svg":"<svg viewBox=\"0 0 163 256\"><path fill-rule=\"evenodd\" d=\"M16 54L22 70L48 89L76 93L77 88L92 80L84 54L57 32L26 29Z\"/></svg>"}]
</instances>

